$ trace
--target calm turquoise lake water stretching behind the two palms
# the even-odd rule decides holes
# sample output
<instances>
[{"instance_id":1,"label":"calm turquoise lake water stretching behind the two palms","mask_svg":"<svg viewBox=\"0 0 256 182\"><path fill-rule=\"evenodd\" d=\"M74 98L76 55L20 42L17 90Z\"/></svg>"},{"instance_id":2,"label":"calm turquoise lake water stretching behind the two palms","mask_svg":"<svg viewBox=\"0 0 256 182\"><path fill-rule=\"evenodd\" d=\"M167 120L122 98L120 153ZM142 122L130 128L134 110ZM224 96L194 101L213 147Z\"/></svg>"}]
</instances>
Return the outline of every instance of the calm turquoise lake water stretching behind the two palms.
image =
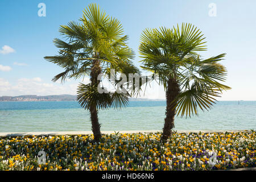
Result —
<instances>
[{"instance_id":1,"label":"calm turquoise lake water stretching behind the two palms","mask_svg":"<svg viewBox=\"0 0 256 182\"><path fill-rule=\"evenodd\" d=\"M165 101L131 101L101 110L101 130L162 130ZM199 117L175 119L175 130L256 129L256 101L220 101ZM0 102L0 132L90 131L90 115L76 101Z\"/></svg>"}]
</instances>

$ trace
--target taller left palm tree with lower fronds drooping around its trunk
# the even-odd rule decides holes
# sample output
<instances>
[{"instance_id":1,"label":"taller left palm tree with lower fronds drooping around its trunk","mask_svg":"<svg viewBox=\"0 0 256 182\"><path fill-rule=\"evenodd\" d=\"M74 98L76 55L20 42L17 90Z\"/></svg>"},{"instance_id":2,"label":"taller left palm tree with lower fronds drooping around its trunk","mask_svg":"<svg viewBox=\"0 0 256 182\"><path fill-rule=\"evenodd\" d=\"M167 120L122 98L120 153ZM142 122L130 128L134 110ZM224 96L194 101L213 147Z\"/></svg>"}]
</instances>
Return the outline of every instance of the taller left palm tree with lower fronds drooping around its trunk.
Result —
<instances>
[{"instance_id":1,"label":"taller left palm tree with lower fronds drooping around its trunk","mask_svg":"<svg viewBox=\"0 0 256 182\"><path fill-rule=\"evenodd\" d=\"M100 11L96 4L90 4L80 21L81 23L69 22L67 26L60 26L60 33L68 42L53 40L55 46L60 48L59 55L44 58L65 69L53 77L52 81L59 78L64 82L67 78L90 77L89 84L79 84L77 100L84 109L90 111L94 140L98 141L101 138L98 110L126 106L130 96L129 92L106 92L99 77L105 74L105 79L111 81L110 69L126 76L129 73L139 73L139 69L130 61L134 52L127 46L128 37L123 35L118 19ZM116 85L120 80L111 83ZM98 92L99 88L104 92Z\"/></svg>"}]
</instances>

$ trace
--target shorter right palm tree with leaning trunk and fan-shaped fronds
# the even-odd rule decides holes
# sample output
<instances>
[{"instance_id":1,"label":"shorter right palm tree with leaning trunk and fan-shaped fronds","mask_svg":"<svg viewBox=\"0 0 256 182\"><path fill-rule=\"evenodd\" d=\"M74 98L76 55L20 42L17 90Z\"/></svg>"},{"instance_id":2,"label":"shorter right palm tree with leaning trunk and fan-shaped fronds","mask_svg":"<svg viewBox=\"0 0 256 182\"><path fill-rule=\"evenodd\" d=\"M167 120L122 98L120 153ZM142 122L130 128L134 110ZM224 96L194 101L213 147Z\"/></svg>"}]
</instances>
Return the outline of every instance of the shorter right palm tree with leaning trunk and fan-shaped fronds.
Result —
<instances>
[{"instance_id":1,"label":"shorter right palm tree with leaning trunk and fan-shaped fronds","mask_svg":"<svg viewBox=\"0 0 256 182\"><path fill-rule=\"evenodd\" d=\"M198 114L197 107L208 110L222 90L231 89L225 81L227 71L221 61L225 53L201 59L196 51L205 51L203 34L192 24L175 28L161 27L142 32L139 52L143 69L158 74L166 91L166 118L162 140L171 136L175 115Z\"/></svg>"}]
</instances>

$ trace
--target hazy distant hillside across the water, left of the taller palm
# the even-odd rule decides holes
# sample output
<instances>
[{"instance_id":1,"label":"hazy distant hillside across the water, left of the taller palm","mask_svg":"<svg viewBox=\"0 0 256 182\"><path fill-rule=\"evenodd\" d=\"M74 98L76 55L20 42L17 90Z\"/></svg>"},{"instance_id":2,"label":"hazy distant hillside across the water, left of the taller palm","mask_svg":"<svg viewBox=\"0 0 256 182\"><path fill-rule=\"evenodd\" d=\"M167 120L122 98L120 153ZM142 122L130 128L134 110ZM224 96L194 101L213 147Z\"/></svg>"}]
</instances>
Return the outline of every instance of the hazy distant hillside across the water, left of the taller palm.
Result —
<instances>
[{"instance_id":1,"label":"hazy distant hillside across the water, left of the taller palm","mask_svg":"<svg viewBox=\"0 0 256 182\"><path fill-rule=\"evenodd\" d=\"M25 95L25 96L2 96L0 101L76 101L76 96L63 94L63 95L52 95L52 96L36 96L36 95Z\"/></svg>"}]
</instances>

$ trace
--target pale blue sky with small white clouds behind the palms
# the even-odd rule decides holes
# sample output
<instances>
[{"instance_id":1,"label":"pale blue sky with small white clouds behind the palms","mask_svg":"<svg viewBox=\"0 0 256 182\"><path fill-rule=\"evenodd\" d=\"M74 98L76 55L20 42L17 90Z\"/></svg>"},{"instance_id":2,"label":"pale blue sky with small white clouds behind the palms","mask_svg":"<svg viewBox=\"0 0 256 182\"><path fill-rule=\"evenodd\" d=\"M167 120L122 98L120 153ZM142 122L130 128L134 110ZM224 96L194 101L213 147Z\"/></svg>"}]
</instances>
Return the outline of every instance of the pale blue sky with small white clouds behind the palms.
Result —
<instances>
[{"instance_id":1,"label":"pale blue sky with small white clouds behind the palms","mask_svg":"<svg viewBox=\"0 0 256 182\"><path fill-rule=\"evenodd\" d=\"M0 1L0 96L22 94L76 94L79 81L61 85L51 78L63 70L48 63L44 56L57 54L54 38L61 38L59 26L79 20L89 3L96 2L106 14L121 20L129 46L134 49L134 63L144 28L172 27L177 23L195 24L207 38L206 58L227 53L222 63L228 68L226 85L232 90L219 100L256 100L256 1ZM39 3L46 5L46 16L38 16ZM216 16L210 3L216 5ZM159 92L149 98L164 98Z\"/></svg>"}]
</instances>

